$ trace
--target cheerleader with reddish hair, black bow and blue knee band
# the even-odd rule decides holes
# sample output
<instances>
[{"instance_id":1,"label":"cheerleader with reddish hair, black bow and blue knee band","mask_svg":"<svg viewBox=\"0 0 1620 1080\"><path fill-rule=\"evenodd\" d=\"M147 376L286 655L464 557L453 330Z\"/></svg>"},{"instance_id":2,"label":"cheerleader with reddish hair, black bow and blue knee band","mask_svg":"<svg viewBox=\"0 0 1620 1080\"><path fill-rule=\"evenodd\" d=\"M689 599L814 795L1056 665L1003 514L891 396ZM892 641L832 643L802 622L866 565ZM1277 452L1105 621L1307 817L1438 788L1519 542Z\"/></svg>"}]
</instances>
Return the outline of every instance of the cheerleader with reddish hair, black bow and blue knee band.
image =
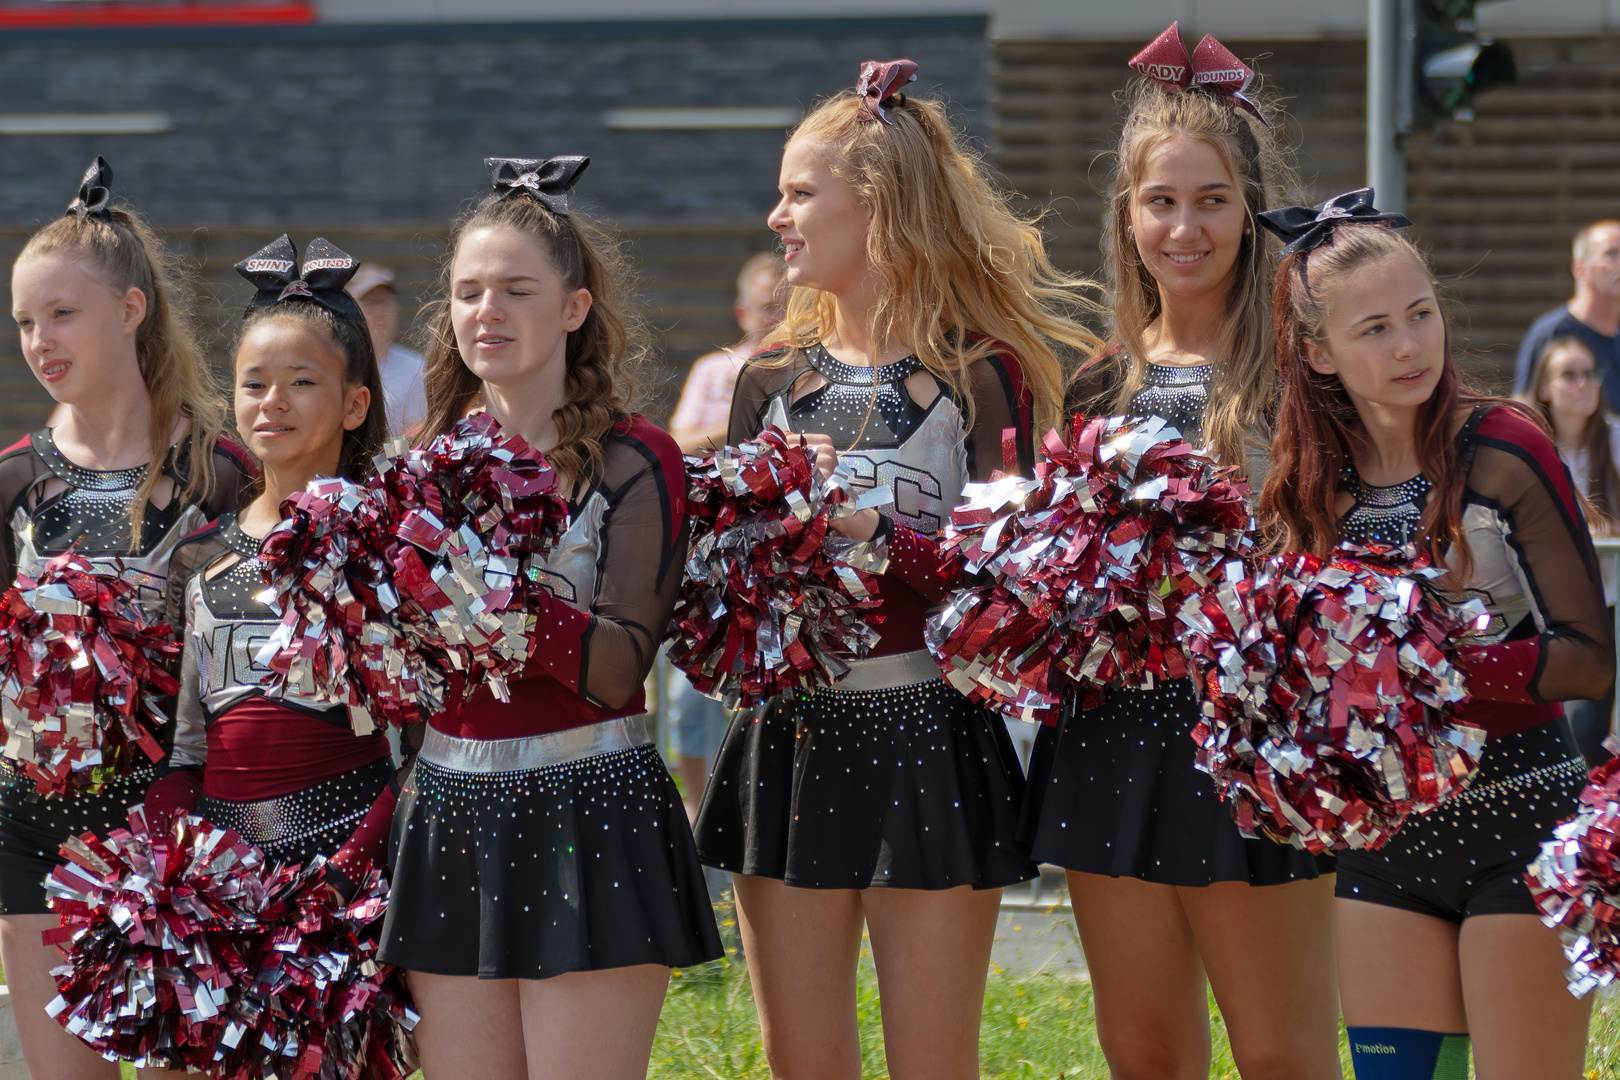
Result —
<instances>
[{"instance_id":1,"label":"cheerleader with reddish hair, black bow and blue knee band","mask_svg":"<svg viewBox=\"0 0 1620 1080\"><path fill-rule=\"evenodd\" d=\"M1356 1075L1583 1075L1591 999L1565 989L1558 934L1524 866L1573 814L1584 766L1558 717L1601 699L1615 656L1591 536L1552 439L1471 393L1427 261L1361 189L1268 215L1283 397L1260 513L1280 546L1418 544L1486 604L1461 653L1486 729L1479 774L1377 852L1345 852L1338 983Z\"/></svg>"}]
</instances>

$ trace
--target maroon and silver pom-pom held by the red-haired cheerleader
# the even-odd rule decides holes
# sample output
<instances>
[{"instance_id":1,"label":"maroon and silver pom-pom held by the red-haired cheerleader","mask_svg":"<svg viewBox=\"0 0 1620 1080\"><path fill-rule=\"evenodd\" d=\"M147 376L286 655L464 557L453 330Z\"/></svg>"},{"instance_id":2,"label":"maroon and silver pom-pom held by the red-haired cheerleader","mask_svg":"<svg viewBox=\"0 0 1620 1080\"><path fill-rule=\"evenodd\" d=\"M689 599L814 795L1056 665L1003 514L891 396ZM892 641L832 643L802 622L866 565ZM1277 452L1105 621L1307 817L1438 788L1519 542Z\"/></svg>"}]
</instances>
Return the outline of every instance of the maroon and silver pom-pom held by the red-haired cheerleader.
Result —
<instances>
[{"instance_id":1,"label":"maroon and silver pom-pom held by the red-haired cheerleader","mask_svg":"<svg viewBox=\"0 0 1620 1080\"><path fill-rule=\"evenodd\" d=\"M1468 784L1484 732L1453 719L1453 657L1484 607L1439 593L1443 573L1345 544L1259 560L1181 609L1199 767L1244 836L1375 850Z\"/></svg>"}]
</instances>

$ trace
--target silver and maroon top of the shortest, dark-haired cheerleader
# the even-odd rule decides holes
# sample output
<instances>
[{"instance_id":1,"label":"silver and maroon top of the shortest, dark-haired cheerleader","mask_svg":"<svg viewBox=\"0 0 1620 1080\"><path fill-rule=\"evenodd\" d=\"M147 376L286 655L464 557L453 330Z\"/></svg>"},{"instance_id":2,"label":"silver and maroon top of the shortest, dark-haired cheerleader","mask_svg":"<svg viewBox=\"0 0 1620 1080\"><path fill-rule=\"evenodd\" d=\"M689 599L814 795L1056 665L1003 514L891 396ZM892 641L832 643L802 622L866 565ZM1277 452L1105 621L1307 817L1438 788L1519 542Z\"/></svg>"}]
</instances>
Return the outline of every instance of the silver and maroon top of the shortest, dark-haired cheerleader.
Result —
<instances>
[{"instance_id":1,"label":"silver and maroon top of the shortest, dark-haired cheerleader","mask_svg":"<svg viewBox=\"0 0 1620 1080\"><path fill-rule=\"evenodd\" d=\"M190 784L201 772L201 790L230 801L279 798L389 756L387 735L355 735L343 706L264 696L271 670L254 657L280 615L258 599L258 555L230 513L181 541L170 563L168 619L185 627L185 653L168 769L191 772Z\"/></svg>"}]
</instances>

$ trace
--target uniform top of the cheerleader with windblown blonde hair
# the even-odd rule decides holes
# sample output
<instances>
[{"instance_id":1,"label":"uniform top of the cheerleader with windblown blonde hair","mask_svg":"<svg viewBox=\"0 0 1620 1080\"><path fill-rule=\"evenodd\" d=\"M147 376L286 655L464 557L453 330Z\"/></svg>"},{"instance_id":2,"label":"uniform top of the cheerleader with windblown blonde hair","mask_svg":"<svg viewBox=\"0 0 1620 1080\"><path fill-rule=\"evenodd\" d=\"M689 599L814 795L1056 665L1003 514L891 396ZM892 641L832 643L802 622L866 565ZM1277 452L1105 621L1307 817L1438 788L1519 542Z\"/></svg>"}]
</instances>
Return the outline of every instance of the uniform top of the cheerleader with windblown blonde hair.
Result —
<instances>
[{"instance_id":1,"label":"uniform top of the cheerleader with windblown blonde hair","mask_svg":"<svg viewBox=\"0 0 1620 1080\"><path fill-rule=\"evenodd\" d=\"M732 398L727 442L745 442L771 424L826 434L857 487L894 491L878 533L888 539L889 573L878 578L881 606L868 615L880 635L872 656L925 648L928 609L951 588L938 575L935 538L962 487L1003 466L1003 432L1014 432L1016 468L1029 474L1035 466L1030 397L1011 355L987 356L969 369L972 431L964 403L943 379L933 377L936 397L928 405L912 397L906 381L920 371L915 356L854 368L815 345L755 358L737 376Z\"/></svg>"}]
</instances>

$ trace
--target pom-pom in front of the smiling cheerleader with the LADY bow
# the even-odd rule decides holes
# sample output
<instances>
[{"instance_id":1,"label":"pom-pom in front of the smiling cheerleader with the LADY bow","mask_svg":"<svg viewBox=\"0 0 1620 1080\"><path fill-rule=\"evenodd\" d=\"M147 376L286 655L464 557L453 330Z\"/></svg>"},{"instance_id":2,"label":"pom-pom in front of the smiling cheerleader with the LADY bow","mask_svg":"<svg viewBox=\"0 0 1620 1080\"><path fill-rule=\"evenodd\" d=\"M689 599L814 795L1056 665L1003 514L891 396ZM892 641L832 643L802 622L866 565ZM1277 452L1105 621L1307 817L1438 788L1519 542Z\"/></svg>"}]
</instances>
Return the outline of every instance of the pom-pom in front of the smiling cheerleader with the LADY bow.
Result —
<instances>
[{"instance_id":1,"label":"pom-pom in front of the smiling cheerleader with the LADY bow","mask_svg":"<svg viewBox=\"0 0 1620 1080\"><path fill-rule=\"evenodd\" d=\"M983 573L928 620L967 696L1021 719L1102 703L1105 687L1186 674L1176 612L1254 546L1247 487L1163 419L1076 418L1034 479L969 484L943 539L948 570Z\"/></svg>"}]
</instances>

